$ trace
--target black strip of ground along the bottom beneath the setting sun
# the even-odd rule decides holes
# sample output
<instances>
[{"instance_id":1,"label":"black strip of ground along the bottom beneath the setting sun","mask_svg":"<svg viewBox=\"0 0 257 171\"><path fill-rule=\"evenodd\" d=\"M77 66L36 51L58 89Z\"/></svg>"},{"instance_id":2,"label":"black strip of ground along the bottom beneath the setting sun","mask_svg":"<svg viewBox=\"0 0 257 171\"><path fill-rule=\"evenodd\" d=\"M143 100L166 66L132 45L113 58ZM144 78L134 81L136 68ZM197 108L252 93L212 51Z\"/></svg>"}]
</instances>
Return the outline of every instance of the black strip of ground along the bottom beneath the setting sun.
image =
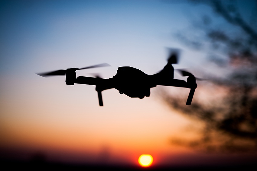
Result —
<instances>
[{"instance_id":1,"label":"black strip of ground along the bottom beneath the setting sun","mask_svg":"<svg viewBox=\"0 0 257 171\"><path fill-rule=\"evenodd\" d=\"M25 169L25 170L35 170L35 169L44 169L44 170L149 170L149 171L162 171L162 170L172 170L172 171L184 171L184 170L197 170L197 171L220 171L220 170L229 170L233 171L234 169L241 170L257 170L257 164L251 165L234 165L234 166L168 166L168 167L157 167L151 166L148 168L143 168L140 166L113 166L113 165L86 165L86 164L68 164L68 163L50 163L45 161L21 161L21 160L6 160L2 159L0 161L1 168L6 168L5 170L12 169Z\"/></svg>"}]
</instances>

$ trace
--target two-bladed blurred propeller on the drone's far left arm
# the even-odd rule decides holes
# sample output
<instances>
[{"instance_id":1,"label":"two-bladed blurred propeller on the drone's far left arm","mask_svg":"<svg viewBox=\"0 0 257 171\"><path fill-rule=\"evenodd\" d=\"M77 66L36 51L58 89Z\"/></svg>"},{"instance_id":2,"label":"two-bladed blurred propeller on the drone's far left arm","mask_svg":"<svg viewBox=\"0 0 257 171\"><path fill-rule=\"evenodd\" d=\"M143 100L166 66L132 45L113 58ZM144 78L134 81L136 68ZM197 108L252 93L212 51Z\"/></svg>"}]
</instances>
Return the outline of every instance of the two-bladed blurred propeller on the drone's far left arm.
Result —
<instances>
[{"instance_id":1,"label":"two-bladed blurred propeller on the drone's far left arm","mask_svg":"<svg viewBox=\"0 0 257 171\"><path fill-rule=\"evenodd\" d=\"M87 67L83 67L83 68L72 68L75 71L77 70L82 70L82 69L89 69L89 68L97 68L97 67L105 67L105 66L111 66L107 63L102 63L102 64L98 64L98 65L91 65L91 66L87 66ZM44 73L38 73L37 75L40 75L42 77L48 77L48 76L54 76L54 75L65 75L67 72L67 69L60 69L57 71L51 71L51 72L44 72Z\"/></svg>"}]
</instances>

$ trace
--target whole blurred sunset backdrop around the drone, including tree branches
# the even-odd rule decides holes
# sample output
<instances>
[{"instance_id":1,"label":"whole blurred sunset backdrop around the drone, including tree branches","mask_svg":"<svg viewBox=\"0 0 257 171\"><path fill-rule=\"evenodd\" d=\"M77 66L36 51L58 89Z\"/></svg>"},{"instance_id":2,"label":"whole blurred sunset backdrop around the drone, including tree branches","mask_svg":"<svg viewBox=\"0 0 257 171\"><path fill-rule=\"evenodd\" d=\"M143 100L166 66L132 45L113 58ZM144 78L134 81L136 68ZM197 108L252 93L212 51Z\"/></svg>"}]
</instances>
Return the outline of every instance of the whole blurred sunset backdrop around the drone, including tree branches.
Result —
<instances>
[{"instance_id":1,"label":"whole blurred sunset backdrop around the drone, including tree branches","mask_svg":"<svg viewBox=\"0 0 257 171\"><path fill-rule=\"evenodd\" d=\"M256 165L257 2L229 0L0 1L0 157L152 167ZM150 97L65 84L77 71L112 78L119 66L155 74L168 48L198 87L157 86ZM92 74L93 73L93 74ZM175 78L184 79L175 70Z\"/></svg>"}]
</instances>

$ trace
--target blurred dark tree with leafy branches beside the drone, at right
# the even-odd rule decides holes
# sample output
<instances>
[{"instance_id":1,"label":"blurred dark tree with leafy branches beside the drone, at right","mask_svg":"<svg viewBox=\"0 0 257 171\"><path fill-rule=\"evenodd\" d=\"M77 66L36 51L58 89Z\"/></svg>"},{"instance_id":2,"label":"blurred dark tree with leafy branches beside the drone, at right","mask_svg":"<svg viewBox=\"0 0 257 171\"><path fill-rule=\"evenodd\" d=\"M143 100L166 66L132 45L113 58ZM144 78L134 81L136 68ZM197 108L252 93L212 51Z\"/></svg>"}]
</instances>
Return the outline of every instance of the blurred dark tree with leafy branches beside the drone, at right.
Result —
<instances>
[{"instance_id":1,"label":"blurred dark tree with leafy branches beside the drone, at right","mask_svg":"<svg viewBox=\"0 0 257 171\"><path fill-rule=\"evenodd\" d=\"M209 99L210 103L194 97L193 103L186 106L180 97L172 97L166 92L161 94L173 109L204 124L200 139L172 138L171 142L208 151L256 152L257 1L253 3L253 9L249 9L252 10L249 20L242 15L236 1L191 0L190 3L208 5L213 13L195 22L193 32L183 30L177 37L194 49L208 49L210 62L218 68L226 68L227 74L225 77L209 74L208 84L197 83L199 88L212 86L223 92L221 96ZM203 34L199 36L199 33Z\"/></svg>"}]
</instances>

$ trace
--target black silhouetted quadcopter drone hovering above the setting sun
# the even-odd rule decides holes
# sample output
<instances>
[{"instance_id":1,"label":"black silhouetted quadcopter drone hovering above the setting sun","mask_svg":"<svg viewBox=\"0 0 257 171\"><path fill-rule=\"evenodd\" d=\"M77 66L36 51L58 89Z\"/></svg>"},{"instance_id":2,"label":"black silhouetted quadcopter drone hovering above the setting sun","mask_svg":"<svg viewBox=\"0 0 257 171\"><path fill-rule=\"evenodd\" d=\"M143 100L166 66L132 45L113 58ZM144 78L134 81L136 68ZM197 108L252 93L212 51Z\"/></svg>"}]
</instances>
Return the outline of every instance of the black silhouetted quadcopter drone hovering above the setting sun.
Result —
<instances>
[{"instance_id":1,"label":"black silhouetted quadcopter drone hovering above the setting sun","mask_svg":"<svg viewBox=\"0 0 257 171\"><path fill-rule=\"evenodd\" d=\"M174 68L172 64L177 64L177 54L171 53L168 63L156 74L148 75L143 71L130 66L122 66L117 70L112 78L105 79L99 76L85 77L78 76L76 71L82 69L110 66L107 63L92 65L84 68L68 68L66 70L57 70L40 73L38 75L47 77L54 75L66 75L67 85L87 84L95 85L98 93L99 106L103 106L102 91L115 88L120 94L125 94L132 98L143 99L150 96L150 89L157 85L190 88L186 105L191 105L195 89L197 88L196 78L190 72L179 70L182 76L188 76L187 81L174 79Z\"/></svg>"}]
</instances>

